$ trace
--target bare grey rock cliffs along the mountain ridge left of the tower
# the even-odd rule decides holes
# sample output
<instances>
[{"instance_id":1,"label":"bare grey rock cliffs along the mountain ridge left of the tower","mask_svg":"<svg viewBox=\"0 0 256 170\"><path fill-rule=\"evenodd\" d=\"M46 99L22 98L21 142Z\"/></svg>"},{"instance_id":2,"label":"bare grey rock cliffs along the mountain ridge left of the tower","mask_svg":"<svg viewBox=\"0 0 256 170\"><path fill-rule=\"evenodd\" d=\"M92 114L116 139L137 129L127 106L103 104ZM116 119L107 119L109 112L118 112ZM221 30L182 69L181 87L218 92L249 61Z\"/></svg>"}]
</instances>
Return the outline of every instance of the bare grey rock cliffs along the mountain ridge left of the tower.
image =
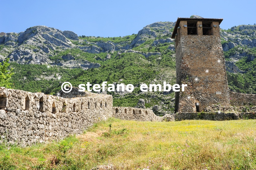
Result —
<instances>
[{"instance_id":1,"label":"bare grey rock cliffs along the mountain ridge left of the tower","mask_svg":"<svg viewBox=\"0 0 256 170\"><path fill-rule=\"evenodd\" d=\"M72 31L60 31L59 29L50 28L47 26L34 26L20 33L7 33L0 36L0 44L4 45L0 51L0 61L6 57L10 61L15 61L19 64L47 64L59 65L69 68L97 68L98 63L85 62L76 59L77 56L71 54L60 56L59 60L52 60L51 57L56 53L66 51L67 49L80 49L82 52L98 54L98 53L113 53L120 51L121 53L137 51L127 51L134 46L143 44L148 39L155 39L158 35L170 35L170 29L174 26L172 22L158 22L147 25L140 30L137 36L131 41L121 41L114 43L112 41L87 41L87 39L79 39L78 35ZM161 30L161 32L160 32ZM89 38L89 37L88 37ZM91 37L90 37L91 38ZM162 42L173 42L170 38L160 40ZM154 42L156 45L158 41ZM144 56L155 55L144 54ZM108 58L108 56L106 56Z\"/></svg>"}]
</instances>

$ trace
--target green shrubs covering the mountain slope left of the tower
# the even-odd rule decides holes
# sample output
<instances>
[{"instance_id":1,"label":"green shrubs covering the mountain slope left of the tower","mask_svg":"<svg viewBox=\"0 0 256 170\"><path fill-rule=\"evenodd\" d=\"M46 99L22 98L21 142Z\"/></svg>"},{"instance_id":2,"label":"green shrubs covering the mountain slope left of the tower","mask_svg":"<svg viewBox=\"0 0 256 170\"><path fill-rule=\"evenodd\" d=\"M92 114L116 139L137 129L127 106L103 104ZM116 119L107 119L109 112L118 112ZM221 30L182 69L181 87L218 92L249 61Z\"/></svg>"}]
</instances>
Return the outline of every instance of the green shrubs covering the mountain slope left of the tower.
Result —
<instances>
[{"instance_id":1,"label":"green shrubs covering the mountain slope left of the tower","mask_svg":"<svg viewBox=\"0 0 256 170\"><path fill-rule=\"evenodd\" d=\"M66 55L71 52L71 54L74 55L73 52L76 52L77 50L74 49L67 51L62 53ZM115 94L114 92L108 92L108 94L113 95L113 105L131 107L137 104L138 99L150 98L152 95L140 94L139 86L141 83L149 85L157 75L159 75L161 69L174 71L175 58L169 56L173 53L174 52L167 52L167 54L163 55L162 58L159 58L157 55L151 55L150 57L145 58L141 54L122 53L118 55L117 52L114 52L111 54L110 59L100 62L101 67L91 68L88 70L78 68L67 69L50 65L19 65L17 63L11 63L11 67L16 70L15 75L13 75L14 88L30 92L43 92L55 95L61 90L60 85L66 81L76 87L79 84L86 84L87 82L90 82L93 85L101 84L103 81L107 81L108 84L112 84L114 82L118 82L118 84L123 83L125 85L133 84L135 87L133 93L128 93L124 96ZM88 54L89 57L92 55L106 55L105 53L86 54ZM88 60L90 59L89 57L87 57ZM23 82L22 84L20 83L21 81ZM173 84L175 79L172 79L172 81L168 80L167 82ZM160 94L160 92L155 93ZM170 96L174 97L174 93ZM159 96L154 99L150 99L150 103L146 103L146 107L157 105L158 101L162 100L162 97ZM165 101L165 104L169 103L169 101ZM172 111L174 109L171 104L168 108ZM168 110L168 108L165 110Z\"/></svg>"}]
</instances>

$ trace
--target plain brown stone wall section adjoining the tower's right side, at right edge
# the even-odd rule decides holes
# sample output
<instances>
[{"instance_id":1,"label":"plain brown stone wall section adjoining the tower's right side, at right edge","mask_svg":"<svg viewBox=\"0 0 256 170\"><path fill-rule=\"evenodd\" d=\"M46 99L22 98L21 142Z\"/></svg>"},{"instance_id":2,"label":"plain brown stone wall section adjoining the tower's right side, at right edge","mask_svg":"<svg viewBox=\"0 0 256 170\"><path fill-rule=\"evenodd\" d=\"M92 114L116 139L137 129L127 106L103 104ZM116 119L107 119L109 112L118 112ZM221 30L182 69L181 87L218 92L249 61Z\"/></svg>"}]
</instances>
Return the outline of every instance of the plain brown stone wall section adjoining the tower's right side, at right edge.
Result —
<instances>
[{"instance_id":1,"label":"plain brown stone wall section adjoining the tower's right side, at right edge","mask_svg":"<svg viewBox=\"0 0 256 170\"><path fill-rule=\"evenodd\" d=\"M236 92L229 92L230 105L243 106L243 105L256 105L255 94L243 94Z\"/></svg>"}]
</instances>

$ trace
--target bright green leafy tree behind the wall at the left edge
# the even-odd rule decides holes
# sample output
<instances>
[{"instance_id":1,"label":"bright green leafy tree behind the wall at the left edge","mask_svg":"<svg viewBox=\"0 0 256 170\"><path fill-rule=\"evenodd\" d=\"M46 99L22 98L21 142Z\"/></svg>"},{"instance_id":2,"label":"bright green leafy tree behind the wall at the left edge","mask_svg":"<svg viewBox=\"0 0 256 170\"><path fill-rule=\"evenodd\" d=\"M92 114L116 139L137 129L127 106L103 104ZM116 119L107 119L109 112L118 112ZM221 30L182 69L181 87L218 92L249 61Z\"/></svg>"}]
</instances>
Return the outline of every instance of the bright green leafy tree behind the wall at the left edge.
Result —
<instances>
[{"instance_id":1,"label":"bright green leafy tree behind the wall at the left edge","mask_svg":"<svg viewBox=\"0 0 256 170\"><path fill-rule=\"evenodd\" d=\"M8 69L8 66L10 65L8 62L9 58L6 58L2 63L0 62L0 86L11 88L11 77L14 73L13 68Z\"/></svg>"}]
</instances>

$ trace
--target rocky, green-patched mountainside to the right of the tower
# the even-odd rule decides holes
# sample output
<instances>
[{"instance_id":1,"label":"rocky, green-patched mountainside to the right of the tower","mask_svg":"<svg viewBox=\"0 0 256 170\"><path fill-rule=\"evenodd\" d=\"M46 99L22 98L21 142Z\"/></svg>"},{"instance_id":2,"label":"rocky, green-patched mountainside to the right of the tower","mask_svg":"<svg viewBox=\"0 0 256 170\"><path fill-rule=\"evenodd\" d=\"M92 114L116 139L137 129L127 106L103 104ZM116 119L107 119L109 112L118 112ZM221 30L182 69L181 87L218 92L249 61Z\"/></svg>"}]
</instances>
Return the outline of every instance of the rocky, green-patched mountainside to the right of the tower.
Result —
<instances>
[{"instance_id":1,"label":"rocky, green-patched mountainside to the right of the tower","mask_svg":"<svg viewBox=\"0 0 256 170\"><path fill-rule=\"evenodd\" d=\"M256 26L239 25L221 30L221 43L227 61L244 73L229 73L229 89L239 93L256 94Z\"/></svg>"}]
</instances>

